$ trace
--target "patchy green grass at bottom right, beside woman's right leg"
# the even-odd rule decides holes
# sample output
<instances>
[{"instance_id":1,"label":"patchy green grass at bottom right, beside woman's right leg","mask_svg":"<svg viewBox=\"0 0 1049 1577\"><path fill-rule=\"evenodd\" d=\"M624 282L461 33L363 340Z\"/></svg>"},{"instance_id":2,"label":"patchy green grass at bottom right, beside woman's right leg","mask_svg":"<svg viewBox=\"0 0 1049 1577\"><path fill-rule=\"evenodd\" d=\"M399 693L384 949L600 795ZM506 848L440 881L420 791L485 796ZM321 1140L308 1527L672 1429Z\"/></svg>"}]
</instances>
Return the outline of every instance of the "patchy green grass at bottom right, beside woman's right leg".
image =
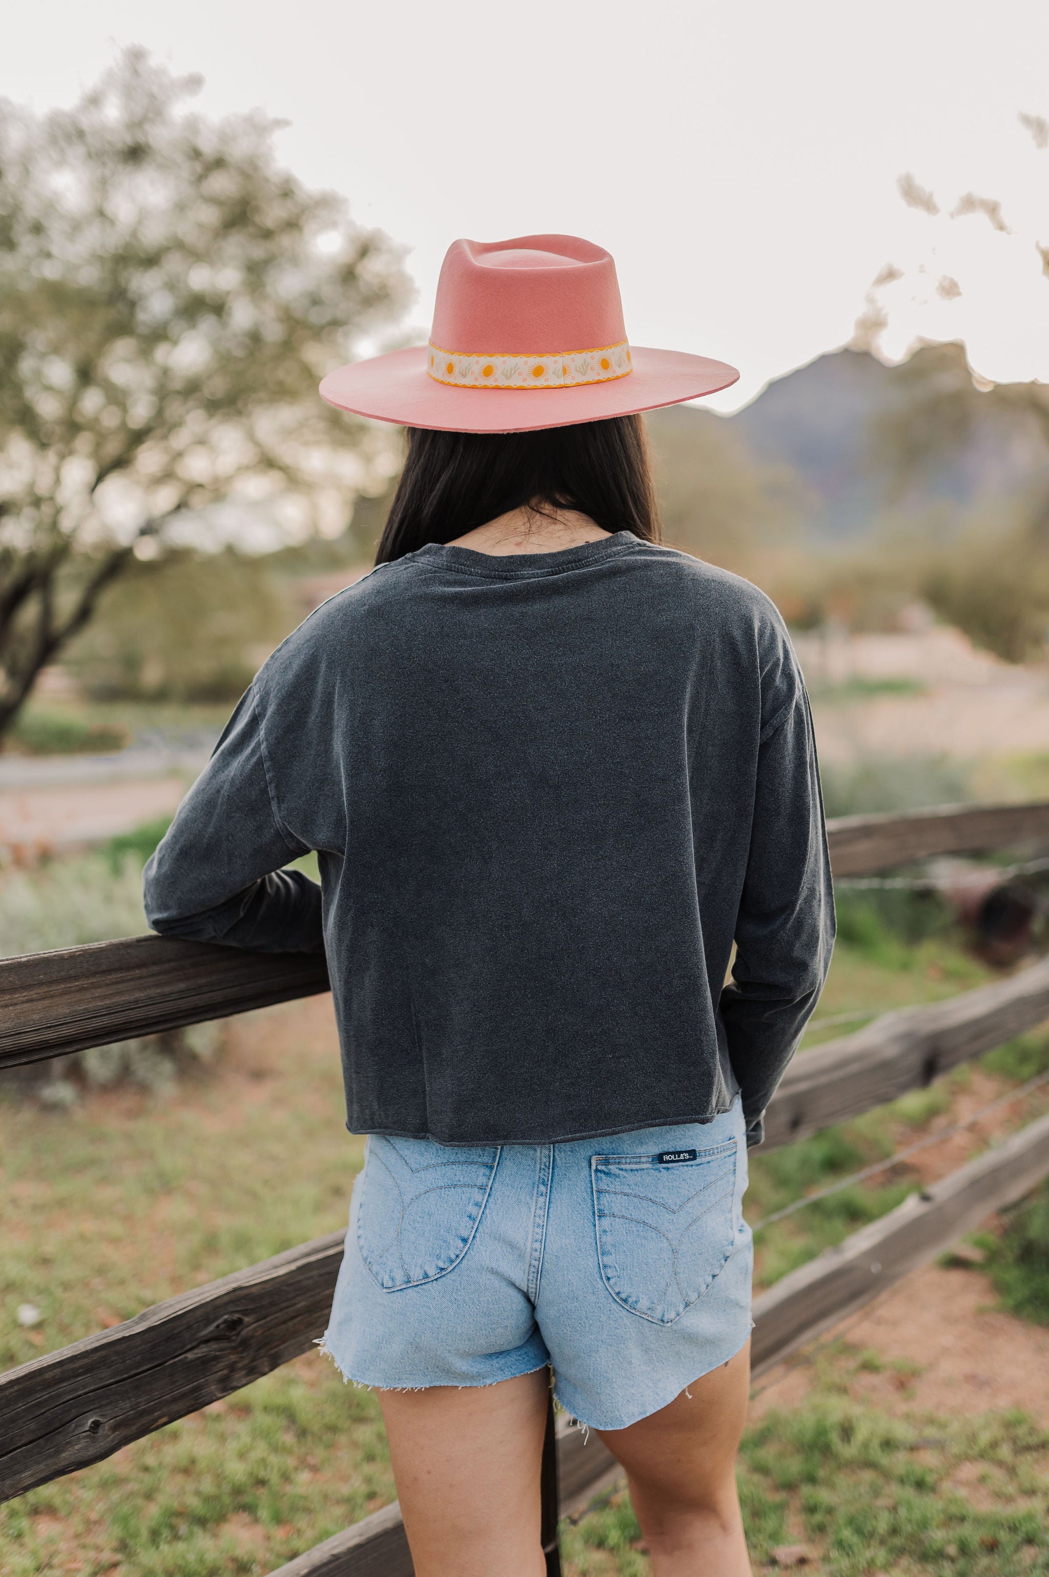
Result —
<instances>
[{"instance_id":1,"label":"patchy green grass at bottom right, beside woman's right leg","mask_svg":"<svg viewBox=\"0 0 1049 1577\"><path fill-rule=\"evenodd\" d=\"M1049 1432L1022 1413L896 1419L816 1386L746 1432L740 1500L759 1571L806 1544L827 1577L1049 1572ZM648 1577L625 1493L562 1542L573 1577Z\"/></svg>"}]
</instances>

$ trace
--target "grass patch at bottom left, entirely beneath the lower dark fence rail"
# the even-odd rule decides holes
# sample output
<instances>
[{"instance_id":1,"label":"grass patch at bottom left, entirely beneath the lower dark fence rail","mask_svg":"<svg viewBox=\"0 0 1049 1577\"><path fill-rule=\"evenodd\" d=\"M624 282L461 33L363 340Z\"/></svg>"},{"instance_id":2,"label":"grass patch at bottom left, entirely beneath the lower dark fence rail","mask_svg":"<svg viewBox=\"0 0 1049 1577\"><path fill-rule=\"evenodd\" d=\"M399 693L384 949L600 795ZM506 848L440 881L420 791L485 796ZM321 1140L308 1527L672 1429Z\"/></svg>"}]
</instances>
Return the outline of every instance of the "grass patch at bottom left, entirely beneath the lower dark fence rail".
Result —
<instances>
[{"instance_id":1,"label":"grass patch at bottom left, entirely beneath the lower dark fence rail","mask_svg":"<svg viewBox=\"0 0 1049 1577\"><path fill-rule=\"evenodd\" d=\"M393 1500L375 1399L298 1359L0 1512L5 1577L268 1572Z\"/></svg>"}]
</instances>

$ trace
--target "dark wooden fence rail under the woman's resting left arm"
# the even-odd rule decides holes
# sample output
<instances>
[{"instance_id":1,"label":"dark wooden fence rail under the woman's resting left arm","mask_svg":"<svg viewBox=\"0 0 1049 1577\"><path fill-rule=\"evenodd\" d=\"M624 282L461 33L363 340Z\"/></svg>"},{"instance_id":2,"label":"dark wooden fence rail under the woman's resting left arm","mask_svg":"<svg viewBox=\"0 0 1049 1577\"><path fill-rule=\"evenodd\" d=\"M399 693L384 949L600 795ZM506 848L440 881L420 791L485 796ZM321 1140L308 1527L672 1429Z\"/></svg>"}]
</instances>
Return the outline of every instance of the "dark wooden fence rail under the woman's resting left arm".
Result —
<instances>
[{"instance_id":1,"label":"dark wooden fence rail under the woman's resting left arm","mask_svg":"<svg viewBox=\"0 0 1049 1577\"><path fill-rule=\"evenodd\" d=\"M330 989L322 954L123 937L0 959L0 1068Z\"/></svg>"}]
</instances>

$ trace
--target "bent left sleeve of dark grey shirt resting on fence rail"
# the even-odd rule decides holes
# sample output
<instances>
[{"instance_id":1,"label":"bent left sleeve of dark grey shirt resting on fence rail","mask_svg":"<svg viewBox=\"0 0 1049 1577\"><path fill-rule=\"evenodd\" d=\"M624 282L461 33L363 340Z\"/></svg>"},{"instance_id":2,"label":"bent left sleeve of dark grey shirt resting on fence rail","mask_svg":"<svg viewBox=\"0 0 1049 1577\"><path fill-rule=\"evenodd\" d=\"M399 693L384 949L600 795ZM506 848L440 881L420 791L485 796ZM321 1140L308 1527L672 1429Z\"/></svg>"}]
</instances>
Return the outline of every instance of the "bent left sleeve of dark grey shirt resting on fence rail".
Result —
<instances>
[{"instance_id":1,"label":"bent left sleeve of dark grey shirt resting on fence rail","mask_svg":"<svg viewBox=\"0 0 1049 1577\"><path fill-rule=\"evenodd\" d=\"M320 888L281 869L304 853L273 800L252 684L145 867L145 916L172 937L322 953Z\"/></svg>"}]
</instances>

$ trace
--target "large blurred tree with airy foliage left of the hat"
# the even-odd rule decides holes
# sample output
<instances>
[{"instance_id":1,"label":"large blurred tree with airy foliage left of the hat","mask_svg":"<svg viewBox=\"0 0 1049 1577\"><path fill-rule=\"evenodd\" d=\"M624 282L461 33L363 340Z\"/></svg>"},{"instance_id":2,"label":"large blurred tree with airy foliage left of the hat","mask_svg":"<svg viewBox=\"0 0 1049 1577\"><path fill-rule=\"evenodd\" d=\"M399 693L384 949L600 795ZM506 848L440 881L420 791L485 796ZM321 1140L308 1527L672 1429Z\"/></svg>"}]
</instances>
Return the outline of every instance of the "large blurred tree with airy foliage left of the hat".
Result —
<instances>
[{"instance_id":1,"label":"large blurred tree with airy foliage left of the hat","mask_svg":"<svg viewBox=\"0 0 1049 1577\"><path fill-rule=\"evenodd\" d=\"M405 304L401 254L199 85L129 50L71 110L0 101L0 735L186 511L301 535L382 484L317 382Z\"/></svg>"}]
</instances>

